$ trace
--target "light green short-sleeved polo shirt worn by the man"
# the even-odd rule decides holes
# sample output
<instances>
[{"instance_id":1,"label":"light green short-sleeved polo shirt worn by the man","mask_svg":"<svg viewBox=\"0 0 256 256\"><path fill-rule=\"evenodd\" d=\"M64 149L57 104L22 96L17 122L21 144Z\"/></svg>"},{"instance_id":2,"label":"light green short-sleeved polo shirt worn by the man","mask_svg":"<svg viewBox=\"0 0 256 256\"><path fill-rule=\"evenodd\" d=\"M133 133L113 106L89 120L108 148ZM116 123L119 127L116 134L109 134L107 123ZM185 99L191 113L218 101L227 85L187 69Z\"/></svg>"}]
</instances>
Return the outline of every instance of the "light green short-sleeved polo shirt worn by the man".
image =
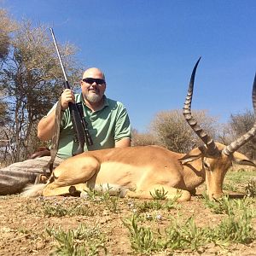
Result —
<instances>
[{"instance_id":1,"label":"light green short-sleeved polo shirt worn by the man","mask_svg":"<svg viewBox=\"0 0 256 256\"><path fill-rule=\"evenodd\" d=\"M128 113L121 102L116 102L104 96L102 108L92 112L85 103L82 94L75 94L75 101L82 102L84 117L93 145L87 146L84 143L84 151L103 148L114 148L115 142L122 138L131 139L131 124ZM49 111L49 113L56 107ZM48 114L49 114L48 113ZM62 114L60 141L57 156L66 159L73 155L78 148L74 142L73 124L69 109Z\"/></svg>"}]
</instances>

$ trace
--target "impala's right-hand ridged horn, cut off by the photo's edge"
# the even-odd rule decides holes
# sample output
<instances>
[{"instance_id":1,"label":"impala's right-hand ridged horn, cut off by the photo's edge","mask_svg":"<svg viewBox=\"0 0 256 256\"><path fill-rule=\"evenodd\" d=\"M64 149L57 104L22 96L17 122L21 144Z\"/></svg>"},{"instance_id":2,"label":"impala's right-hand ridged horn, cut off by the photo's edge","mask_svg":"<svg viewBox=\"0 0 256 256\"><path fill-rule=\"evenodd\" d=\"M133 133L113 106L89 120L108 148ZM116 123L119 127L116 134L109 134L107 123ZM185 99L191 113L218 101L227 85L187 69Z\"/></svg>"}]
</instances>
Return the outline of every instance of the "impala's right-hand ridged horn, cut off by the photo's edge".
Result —
<instances>
[{"instance_id":1,"label":"impala's right-hand ridged horn, cut off by the photo's edge","mask_svg":"<svg viewBox=\"0 0 256 256\"><path fill-rule=\"evenodd\" d=\"M252 97L253 97L253 109L254 109L254 113L256 113L256 73L253 81ZM235 142L230 143L229 146L225 147L223 149L223 153L226 155L233 154L238 148L240 148L243 144L250 141L255 135L256 135L256 122L254 123L253 128L250 131L247 131L247 133L245 133L244 135L236 139Z\"/></svg>"}]
</instances>

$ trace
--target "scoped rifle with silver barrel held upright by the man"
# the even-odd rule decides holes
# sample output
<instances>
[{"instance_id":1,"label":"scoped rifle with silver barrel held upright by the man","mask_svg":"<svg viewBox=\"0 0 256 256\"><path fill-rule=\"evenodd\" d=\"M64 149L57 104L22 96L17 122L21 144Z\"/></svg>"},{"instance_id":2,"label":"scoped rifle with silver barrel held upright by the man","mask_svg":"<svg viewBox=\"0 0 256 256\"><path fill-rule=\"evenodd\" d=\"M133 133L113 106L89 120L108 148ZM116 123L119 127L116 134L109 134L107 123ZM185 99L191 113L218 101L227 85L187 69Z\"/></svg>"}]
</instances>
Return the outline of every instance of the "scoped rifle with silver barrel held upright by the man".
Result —
<instances>
[{"instance_id":1,"label":"scoped rifle with silver barrel held upright by the man","mask_svg":"<svg viewBox=\"0 0 256 256\"><path fill-rule=\"evenodd\" d=\"M57 43L55 40L55 34L54 34L52 28L49 28L49 29L50 29L52 38L55 43L55 49L57 51L59 61L61 62L61 69L62 69L62 73L63 73L64 79L65 79L64 88L71 89L69 86L69 83L67 81L67 75L66 75L64 66L62 64L61 55L60 55L60 52L59 52L59 49L58 49L58 46L57 46ZM73 155L81 154L84 152L84 143L86 143L89 146L91 146L93 144L92 139L90 137L88 127L87 127L87 123L84 118L82 102L78 102L78 103L68 102L68 108L70 111L71 120L73 123L73 130L74 130L74 134L75 134L74 142L79 143L79 147L78 147L77 151L73 153Z\"/></svg>"}]
</instances>

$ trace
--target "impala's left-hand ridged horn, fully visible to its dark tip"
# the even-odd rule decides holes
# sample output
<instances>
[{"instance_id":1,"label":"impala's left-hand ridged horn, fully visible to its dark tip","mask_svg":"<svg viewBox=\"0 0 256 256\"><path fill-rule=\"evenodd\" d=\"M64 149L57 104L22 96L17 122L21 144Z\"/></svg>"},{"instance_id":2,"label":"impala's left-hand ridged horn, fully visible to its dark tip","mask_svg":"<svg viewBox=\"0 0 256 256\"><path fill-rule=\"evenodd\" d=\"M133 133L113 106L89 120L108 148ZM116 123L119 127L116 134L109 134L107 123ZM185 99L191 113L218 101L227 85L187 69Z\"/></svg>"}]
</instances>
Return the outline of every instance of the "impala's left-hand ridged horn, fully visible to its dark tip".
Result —
<instances>
[{"instance_id":1,"label":"impala's left-hand ridged horn, fully visible to its dark tip","mask_svg":"<svg viewBox=\"0 0 256 256\"><path fill-rule=\"evenodd\" d=\"M197 125L197 122L191 115L191 102L192 102L192 96L193 96L193 89L194 89L194 82L195 82L195 72L196 68L198 66L199 61L201 60L201 57L199 60L195 63L195 67L193 69L193 72L191 74L190 83L189 83L189 90L188 94L186 96L186 100L183 107L183 116L190 125L190 127L195 131L196 135L201 138L202 142L206 144L207 146L207 152L210 155L217 155L219 154L218 148L216 147L215 143L213 142L212 138L207 135L205 131L201 129L199 125Z\"/></svg>"}]
</instances>

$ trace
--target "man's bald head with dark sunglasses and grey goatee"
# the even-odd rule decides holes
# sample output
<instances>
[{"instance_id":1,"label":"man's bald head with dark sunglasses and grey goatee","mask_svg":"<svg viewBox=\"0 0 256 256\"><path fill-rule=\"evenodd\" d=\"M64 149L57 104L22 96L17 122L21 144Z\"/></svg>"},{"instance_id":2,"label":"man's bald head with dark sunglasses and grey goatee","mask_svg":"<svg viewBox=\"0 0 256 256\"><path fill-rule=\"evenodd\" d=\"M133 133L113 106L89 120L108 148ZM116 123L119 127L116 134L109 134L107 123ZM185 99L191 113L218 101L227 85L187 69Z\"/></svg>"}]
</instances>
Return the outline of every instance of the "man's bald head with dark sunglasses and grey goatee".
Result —
<instances>
[{"instance_id":1,"label":"man's bald head with dark sunglasses and grey goatee","mask_svg":"<svg viewBox=\"0 0 256 256\"><path fill-rule=\"evenodd\" d=\"M106 90L105 75L96 67L86 69L81 80L84 100L92 104L101 102Z\"/></svg>"}]
</instances>

